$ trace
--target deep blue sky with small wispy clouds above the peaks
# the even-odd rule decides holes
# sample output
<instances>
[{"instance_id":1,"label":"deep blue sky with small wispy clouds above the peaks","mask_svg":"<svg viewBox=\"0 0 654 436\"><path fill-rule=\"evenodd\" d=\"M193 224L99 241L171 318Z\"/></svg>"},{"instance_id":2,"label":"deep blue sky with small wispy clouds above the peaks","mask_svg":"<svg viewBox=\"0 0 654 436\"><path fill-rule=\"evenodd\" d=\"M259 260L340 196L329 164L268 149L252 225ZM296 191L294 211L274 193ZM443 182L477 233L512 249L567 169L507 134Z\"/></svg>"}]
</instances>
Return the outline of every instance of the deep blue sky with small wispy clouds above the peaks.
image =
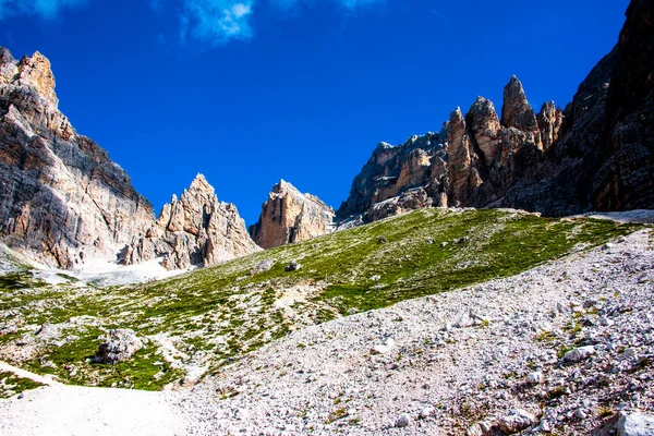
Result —
<instances>
[{"instance_id":1,"label":"deep blue sky with small wispy clouds above the peaks","mask_svg":"<svg viewBox=\"0 0 654 436\"><path fill-rule=\"evenodd\" d=\"M512 74L565 106L628 0L0 0L60 109L158 213L197 172L247 223L283 178L337 208L380 141L438 131Z\"/></svg>"}]
</instances>

